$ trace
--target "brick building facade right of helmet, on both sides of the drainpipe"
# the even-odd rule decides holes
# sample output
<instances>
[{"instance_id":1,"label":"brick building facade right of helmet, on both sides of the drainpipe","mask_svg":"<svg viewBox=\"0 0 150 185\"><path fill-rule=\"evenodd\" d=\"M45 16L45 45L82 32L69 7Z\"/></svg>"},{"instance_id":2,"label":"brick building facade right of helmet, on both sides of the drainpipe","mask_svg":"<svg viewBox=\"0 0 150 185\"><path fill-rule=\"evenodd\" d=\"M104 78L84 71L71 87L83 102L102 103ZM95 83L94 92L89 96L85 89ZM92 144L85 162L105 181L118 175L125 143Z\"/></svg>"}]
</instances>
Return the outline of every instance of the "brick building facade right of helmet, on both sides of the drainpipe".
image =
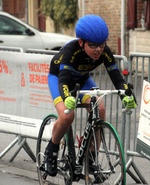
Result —
<instances>
[{"instance_id":1,"label":"brick building facade right of helmet, on both sides of the drainpipe","mask_svg":"<svg viewBox=\"0 0 150 185\"><path fill-rule=\"evenodd\" d=\"M121 54L121 6L122 0L80 0L79 17L84 14L101 16L109 28L109 46L114 54ZM149 52L150 46L150 0L125 0L124 42L125 56L131 52ZM142 23L143 22L143 23ZM139 46L141 45L141 46ZM134 47L133 47L134 46Z\"/></svg>"}]
</instances>

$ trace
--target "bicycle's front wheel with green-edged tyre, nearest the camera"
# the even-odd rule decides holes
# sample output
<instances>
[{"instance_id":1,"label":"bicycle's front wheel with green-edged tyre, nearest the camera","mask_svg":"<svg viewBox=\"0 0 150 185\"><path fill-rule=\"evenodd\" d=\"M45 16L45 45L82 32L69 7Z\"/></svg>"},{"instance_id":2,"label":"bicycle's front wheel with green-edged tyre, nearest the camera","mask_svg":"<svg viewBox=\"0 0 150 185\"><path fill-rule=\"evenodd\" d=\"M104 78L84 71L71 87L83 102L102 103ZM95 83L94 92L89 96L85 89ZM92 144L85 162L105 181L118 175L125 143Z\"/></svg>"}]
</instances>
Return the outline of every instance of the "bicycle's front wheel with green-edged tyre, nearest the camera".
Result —
<instances>
[{"instance_id":1,"label":"bicycle's front wheel with green-edged tyre, nearest the camera","mask_svg":"<svg viewBox=\"0 0 150 185\"><path fill-rule=\"evenodd\" d=\"M96 137L99 138L98 142ZM88 141L85 153L85 184L126 184L122 145L113 126L105 121L97 122Z\"/></svg>"}]
</instances>

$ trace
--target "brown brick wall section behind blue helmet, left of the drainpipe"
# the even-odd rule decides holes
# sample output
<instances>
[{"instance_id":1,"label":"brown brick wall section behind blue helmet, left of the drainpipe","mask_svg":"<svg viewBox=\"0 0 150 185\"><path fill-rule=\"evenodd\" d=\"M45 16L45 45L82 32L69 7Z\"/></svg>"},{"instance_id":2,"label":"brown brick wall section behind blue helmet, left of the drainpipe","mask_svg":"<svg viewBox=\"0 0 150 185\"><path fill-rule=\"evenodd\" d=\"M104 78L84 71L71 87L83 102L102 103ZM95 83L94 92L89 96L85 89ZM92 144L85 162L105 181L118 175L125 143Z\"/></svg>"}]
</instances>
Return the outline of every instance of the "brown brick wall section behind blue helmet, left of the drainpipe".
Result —
<instances>
[{"instance_id":1,"label":"brown brick wall section behind blue helmet, left of the drainpipe","mask_svg":"<svg viewBox=\"0 0 150 185\"><path fill-rule=\"evenodd\" d=\"M96 14L101 16L109 28L109 46L115 54L120 54L121 33L121 0L85 0L84 14ZM82 16L82 3L80 15Z\"/></svg>"}]
</instances>

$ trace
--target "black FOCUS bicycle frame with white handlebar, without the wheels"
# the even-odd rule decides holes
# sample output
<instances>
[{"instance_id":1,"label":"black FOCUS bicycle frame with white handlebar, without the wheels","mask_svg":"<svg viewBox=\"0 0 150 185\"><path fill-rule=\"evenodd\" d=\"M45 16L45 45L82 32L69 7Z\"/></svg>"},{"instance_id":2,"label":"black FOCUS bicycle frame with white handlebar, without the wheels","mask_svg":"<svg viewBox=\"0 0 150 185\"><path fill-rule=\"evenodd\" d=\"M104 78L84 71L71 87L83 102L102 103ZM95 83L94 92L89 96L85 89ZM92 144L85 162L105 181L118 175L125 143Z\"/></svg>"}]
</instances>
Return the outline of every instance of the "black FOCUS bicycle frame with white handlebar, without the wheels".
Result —
<instances>
[{"instance_id":1,"label":"black FOCUS bicycle frame with white handlebar, without the wheels","mask_svg":"<svg viewBox=\"0 0 150 185\"><path fill-rule=\"evenodd\" d=\"M77 96L76 96L76 102L78 100L78 96L79 94L88 94L88 91L78 91L77 92ZM85 127L84 133L83 133L83 139L80 145L80 148L78 150L78 154L76 156L76 161L75 161L75 166L73 167L74 171L73 171L73 175L75 175L75 177L77 176L78 178L74 179L74 180L79 180L82 176L82 170L83 170L83 159L84 159L84 154L87 148L87 143L88 143L88 139L90 136L90 133L93 131L94 132L94 125L98 125L100 124L100 115L99 115L99 106L98 106L98 102L97 102L97 97L102 95L109 95L109 94L124 94L125 90L98 90L98 89L93 89L93 91L90 91L90 95L93 95L91 97L91 101L90 104L77 104L76 103L76 108L89 108L91 109L89 116L88 116L88 120L87 120L87 125ZM94 96L96 95L96 96ZM94 134L93 134L94 135ZM95 136L95 135L94 135ZM104 140L104 144L105 144L105 139ZM95 143L95 151L97 151L97 140L96 140L96 136L94 137L94 143ZM107 150L107 147L105 146L105 149ZM74 148L75 150L75 148ZM97 152L95 152L97 154ZM95 156L95 161L97 163L97 159L98 156ZM109 156L107 156L107 160L110 161ZM113 173L113 167L111 166L111 171Z\"/></svg>"}]
</instances>

